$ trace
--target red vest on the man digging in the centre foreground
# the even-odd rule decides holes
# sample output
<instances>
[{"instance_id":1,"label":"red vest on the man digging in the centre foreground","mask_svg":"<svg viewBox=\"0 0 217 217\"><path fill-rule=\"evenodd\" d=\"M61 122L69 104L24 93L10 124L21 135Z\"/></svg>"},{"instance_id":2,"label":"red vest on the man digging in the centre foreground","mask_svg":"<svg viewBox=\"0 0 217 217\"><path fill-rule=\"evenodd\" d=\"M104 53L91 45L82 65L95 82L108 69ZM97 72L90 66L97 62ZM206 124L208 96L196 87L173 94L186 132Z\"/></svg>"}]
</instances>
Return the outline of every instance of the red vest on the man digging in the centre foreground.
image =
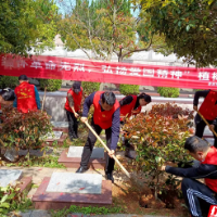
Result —
<instances>
[{"instance_id":1,"label":"red vest on the man digging in the centre foreground","mask_svg":"<svg viewBox=\"0 0 217 217\"><path fill-rule=\"evenodd\" d=\"M116 100L112 110L102 112L101 105L99 103L102 93L103 91L97 91L93 98L93 122L95 125L99 125L102 129L107 129L112 127L112 116L114 112L119 107L119 103Z\"/></svg>"}]
</instances>

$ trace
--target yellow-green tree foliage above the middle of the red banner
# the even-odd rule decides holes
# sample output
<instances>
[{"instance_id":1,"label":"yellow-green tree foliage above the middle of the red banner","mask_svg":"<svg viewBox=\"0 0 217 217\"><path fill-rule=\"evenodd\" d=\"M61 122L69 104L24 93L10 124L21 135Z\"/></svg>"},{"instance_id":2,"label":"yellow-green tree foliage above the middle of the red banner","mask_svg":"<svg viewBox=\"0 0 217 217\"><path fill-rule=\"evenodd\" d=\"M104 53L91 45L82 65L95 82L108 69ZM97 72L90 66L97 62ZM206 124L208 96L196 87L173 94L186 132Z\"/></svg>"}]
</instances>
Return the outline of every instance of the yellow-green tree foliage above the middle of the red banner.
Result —
<instances>
[{"instance_id":1,"label":"yellow-green tree foliage above the middle of the red banner","mask_svg":"<svg viewBox=\"0 0 217 217\"><path fill-rule=\"evenodd\" d=\"M61 8L66 14L58 26L66 48L81 49L89 59L110 61L115 53L123 61L133 52L149 50L159 38L153 37L145 20L131 14L129 0L72 0L63 1ZM146 29L141 29L142 23Z\"/></svg>"}]
</instances>

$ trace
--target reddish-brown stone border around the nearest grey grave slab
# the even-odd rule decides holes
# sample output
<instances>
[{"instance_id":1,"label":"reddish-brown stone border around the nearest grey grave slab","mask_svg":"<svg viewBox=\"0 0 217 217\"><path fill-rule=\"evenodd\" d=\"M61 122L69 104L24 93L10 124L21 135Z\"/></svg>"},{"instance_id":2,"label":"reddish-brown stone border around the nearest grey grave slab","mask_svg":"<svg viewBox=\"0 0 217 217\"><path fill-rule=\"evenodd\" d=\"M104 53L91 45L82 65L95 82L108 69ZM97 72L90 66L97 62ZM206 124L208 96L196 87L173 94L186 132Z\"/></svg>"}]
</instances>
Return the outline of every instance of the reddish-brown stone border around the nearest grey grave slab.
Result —
<instances>
[{"instance_id":1,"label":"reddish-brown stone border around the nearest grey grave slab","mask_svg":"<svg viewBox=\"0 0 217 217\"><path fill-rule=\"evenodd\" d=\"M78 193L51 193L46 192L50 178L43 178L41 184L34 194L31 201L35 209L63 209L72 205L77 206L106 206L112 204L112 181L102 181L101 194L78 194Z\"/></svg>"}]
</instances>

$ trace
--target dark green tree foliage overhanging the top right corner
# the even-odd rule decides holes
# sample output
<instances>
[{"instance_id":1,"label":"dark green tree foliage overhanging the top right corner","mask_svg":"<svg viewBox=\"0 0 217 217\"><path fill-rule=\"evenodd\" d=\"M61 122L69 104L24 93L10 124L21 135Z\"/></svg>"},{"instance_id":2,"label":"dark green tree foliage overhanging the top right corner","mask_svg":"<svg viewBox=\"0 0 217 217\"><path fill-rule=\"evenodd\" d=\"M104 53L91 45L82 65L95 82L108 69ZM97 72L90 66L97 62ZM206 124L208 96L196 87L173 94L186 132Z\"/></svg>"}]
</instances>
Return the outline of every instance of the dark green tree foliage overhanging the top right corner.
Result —
<instances>
[{"instance_id":1,"label":"dark green tree foliage overhanging the top right corner","mask_svg":"<svg viewBox=\"0 0 217 217\"><path fill-rule=\"evenodd\" d=\"M163 35L169 51L196 66L217 65L216 0L135 0L140 16L150 14L155 34Z\"/></svg>"}]
</instances>

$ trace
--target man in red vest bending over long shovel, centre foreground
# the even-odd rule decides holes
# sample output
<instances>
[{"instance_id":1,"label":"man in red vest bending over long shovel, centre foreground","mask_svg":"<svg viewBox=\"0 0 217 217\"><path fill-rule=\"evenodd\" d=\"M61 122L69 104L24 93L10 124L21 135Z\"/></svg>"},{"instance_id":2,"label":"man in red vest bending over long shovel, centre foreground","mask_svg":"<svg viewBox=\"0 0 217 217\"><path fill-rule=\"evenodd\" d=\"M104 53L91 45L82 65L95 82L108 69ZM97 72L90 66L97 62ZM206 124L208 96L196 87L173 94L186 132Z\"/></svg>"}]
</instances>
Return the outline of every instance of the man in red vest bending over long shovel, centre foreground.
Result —
<instances>
[{"instance_id":1,"label":"man in red vest bending over long shovel, centre foreground","mask_svg":"<svg viewBox=\"0 0 217 217\"><path fill-rule=\"evenodd\" d=\"M103 129L105 130L106 144L111 150L111 152L106 153L105 156L105 175L106 179L114 182L113 170L115 161L113 156L119 138L119 103L113 92L93 92L85 100L81 122L88 122L88 112L92 104L94 106L94 113L91 126L98 135L100 135ZM88 169L88 163L95 141L95 136L89 131L82 151L80 167L76 173L84 173Z\"/></svg>"}]
</instances>

